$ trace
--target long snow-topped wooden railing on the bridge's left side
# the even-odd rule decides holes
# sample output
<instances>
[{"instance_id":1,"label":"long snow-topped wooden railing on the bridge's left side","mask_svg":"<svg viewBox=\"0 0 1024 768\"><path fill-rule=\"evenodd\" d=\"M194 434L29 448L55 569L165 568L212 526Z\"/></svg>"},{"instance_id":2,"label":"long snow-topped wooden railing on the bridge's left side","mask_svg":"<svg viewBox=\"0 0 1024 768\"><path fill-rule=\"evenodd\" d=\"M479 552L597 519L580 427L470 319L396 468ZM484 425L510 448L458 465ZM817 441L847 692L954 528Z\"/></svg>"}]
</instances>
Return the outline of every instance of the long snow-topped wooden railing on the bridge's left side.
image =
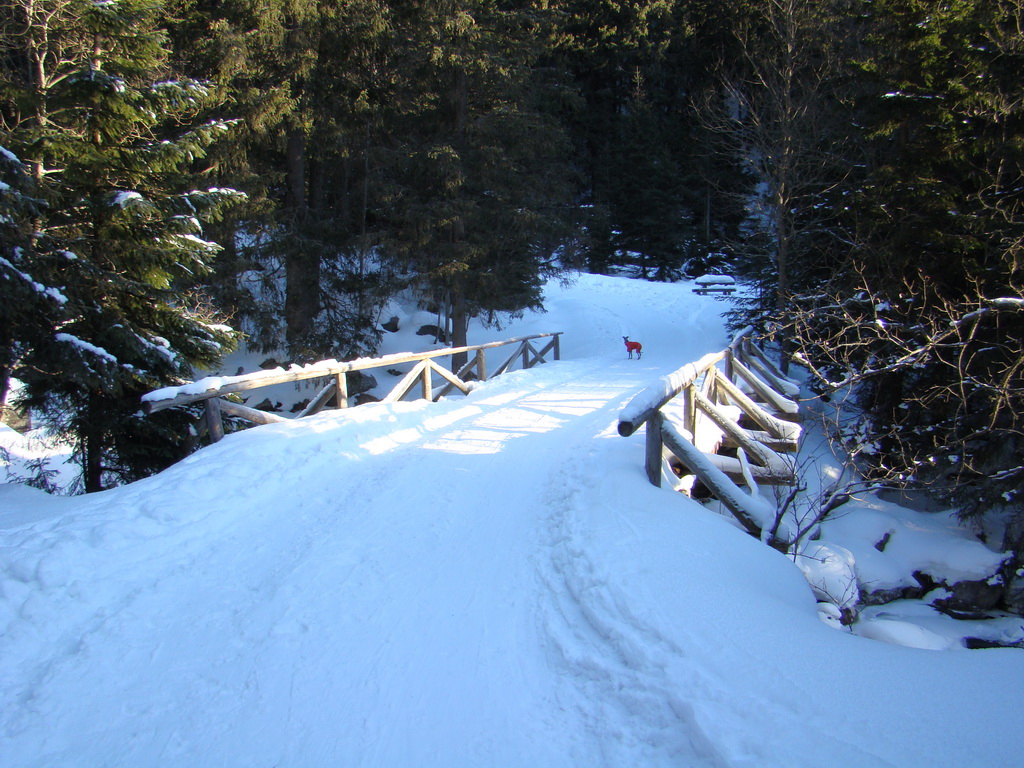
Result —
<instances>
[{"instance_id":1,"label":"long snow-topped wooden railing on the bridge's left side","mask_svg":"<svg viewBox=\"0 0 1024 768\"><path fill-rule=\"evenodd\" d=\"M233 400L224 399L225 395L310 379L327 380L327 384L316 393L302 412L293 417L301 419L324 410L332 397L336 399L338 408L347 408L347 375L353 371L370 371L378 368L391 368L404 362L415 362L416 365L413 366L412 370L382 398L383 401L396 402L404 399L414 390L418 390L421 397L436 400L454 389L468 394L472 388L471 382L473 380L486 381L496 376L501 376L510 370L517 360L521 360L523 369L529 369L541 362L547 362L546 357L549 352L553 359L559 359L561 356L559 348L560 336L561 331L558 331L555 333L523 336L517 339L507 339L505 341L494 341L488 344L446 347L429 352L399 352L384 355L383 357L367 357L347 362L324 360L323 362L315 362L308 366L292 366L287 371L279 368L272 371L260 371L239 376L208 377L190 384L178 387L166 387L148 392L142 396L142 411L146 414L153 414L168 408L205 401L207 427L210 430L211 439L216 442L224 436L223 414L236 416L256 424L291 421L291 419L274 413L259 411ZM538 339L549 339L549 341L538 349L532 343ZM508 347L512 344L515 345L515 350L512 354L495 369L494 372L488 373L487 350ZM463 353L469 355L469 359L458 372L450 371L436 361L438 358L452 357L453 355ZM433 383L434 374L443 381L443 384L437 388L434 387Z\"/></svg>"}]
</instances>

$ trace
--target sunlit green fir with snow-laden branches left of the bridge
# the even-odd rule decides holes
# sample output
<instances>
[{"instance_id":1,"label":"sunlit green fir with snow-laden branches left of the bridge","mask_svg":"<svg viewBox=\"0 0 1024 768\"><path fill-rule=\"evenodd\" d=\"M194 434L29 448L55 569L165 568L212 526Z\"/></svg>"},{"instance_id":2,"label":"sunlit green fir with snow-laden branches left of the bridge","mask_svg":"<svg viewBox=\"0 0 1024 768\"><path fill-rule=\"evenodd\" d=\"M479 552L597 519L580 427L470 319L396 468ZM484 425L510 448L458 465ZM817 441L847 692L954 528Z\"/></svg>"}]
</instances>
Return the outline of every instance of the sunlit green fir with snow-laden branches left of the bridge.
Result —
<instances>
[{"instance_id":1,"label":"sunlit green fir with snow-laden branches left of the bridge","mask_svg":"<svg viewBox=\"0 0 1024 768\"><path fill-rule=\"evenodd\" d=\"M203 221L241 197L195 184L228 125L208 117L204 83L170 77L160 7L26 0L3 41L5 127L45 203L34 237L60 256L44 284L60 312L15 340L14 376L76 436L88 492L181 455L187 422L145 419L138 397L215 364L234 337L197 290L219 250Z\"/></svg>"}]
</instances>

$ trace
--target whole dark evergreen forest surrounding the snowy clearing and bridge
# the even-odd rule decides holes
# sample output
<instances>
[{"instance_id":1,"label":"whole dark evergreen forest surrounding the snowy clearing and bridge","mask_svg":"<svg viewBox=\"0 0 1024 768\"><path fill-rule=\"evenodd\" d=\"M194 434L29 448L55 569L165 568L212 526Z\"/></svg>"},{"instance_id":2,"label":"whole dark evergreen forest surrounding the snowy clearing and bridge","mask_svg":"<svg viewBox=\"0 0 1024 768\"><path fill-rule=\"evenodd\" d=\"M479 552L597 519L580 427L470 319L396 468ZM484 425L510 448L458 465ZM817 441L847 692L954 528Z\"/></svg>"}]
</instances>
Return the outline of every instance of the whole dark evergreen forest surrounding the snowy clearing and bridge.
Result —
<instances>
[{"instance_id":1,"label":"whole dark evergreen forest surrounding the snowy clearing and bridge","mask_svg":"<svg viewBox=\"0 0 1024 768\"><path fill-rule=\"evenodd\" d=\"M732 323L850 397L866 478L1024 547L1024 0L0 18L0 403L74 436L81 490L195 450L139 396L240 343L372 354L403 294L460 345L564 270L727 271Z\"/></svg>"}]
</instances>

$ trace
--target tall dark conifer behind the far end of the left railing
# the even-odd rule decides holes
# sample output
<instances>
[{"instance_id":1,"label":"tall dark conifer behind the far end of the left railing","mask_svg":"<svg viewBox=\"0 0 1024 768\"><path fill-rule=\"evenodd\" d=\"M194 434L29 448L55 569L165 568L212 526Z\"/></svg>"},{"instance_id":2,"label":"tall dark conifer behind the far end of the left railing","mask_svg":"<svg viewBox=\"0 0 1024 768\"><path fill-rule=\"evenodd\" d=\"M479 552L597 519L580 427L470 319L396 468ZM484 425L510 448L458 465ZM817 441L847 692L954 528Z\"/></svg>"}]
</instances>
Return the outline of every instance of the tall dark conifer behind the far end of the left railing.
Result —
<instances>
[{"instance_id":1,"label":"tall dark conifer behind the far end of the left railing","mask_svg":"<svg viewBox=\"0 0 1024 768\"><path fill-rule=\"evenodd\" d=\"M390 245L452 318L538 306L553 256L571 239L568 145L545 99L544 13L530 2L426 3L408 19L416 98L399 239ZM566 254L567 255L567 254Z\"/></svg>"}]
</instances>

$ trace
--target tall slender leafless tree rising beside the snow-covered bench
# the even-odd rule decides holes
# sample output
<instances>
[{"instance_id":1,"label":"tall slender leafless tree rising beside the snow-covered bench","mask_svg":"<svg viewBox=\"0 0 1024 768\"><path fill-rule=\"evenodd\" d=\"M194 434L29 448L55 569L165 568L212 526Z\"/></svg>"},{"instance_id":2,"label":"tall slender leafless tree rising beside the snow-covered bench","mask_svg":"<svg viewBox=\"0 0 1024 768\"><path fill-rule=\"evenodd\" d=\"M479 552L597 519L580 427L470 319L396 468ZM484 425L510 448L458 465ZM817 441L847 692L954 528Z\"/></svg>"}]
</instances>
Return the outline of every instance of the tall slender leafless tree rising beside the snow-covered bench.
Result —
<instances>
[{"instance_id":1,"label":"tall slender leafless tree rising beside the snow-covered bench","mask_svg":"<svg viewBox=\"0 0 1024 768\"><path fill-rule=\"evenodd\" d=\"M844 5L750 4L733 30L738 55L722 61L702 111L712 140L746 179L736 189L745 221L729 246L758 291L734 312L740 327L770 328L795 293L813 290L834 267L837 190L856 166L839 90L845 54L837 46L850 24Z\"/></svg>"}]
</instances>

